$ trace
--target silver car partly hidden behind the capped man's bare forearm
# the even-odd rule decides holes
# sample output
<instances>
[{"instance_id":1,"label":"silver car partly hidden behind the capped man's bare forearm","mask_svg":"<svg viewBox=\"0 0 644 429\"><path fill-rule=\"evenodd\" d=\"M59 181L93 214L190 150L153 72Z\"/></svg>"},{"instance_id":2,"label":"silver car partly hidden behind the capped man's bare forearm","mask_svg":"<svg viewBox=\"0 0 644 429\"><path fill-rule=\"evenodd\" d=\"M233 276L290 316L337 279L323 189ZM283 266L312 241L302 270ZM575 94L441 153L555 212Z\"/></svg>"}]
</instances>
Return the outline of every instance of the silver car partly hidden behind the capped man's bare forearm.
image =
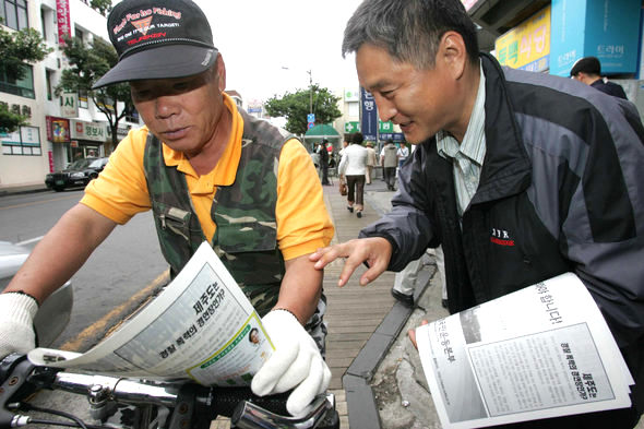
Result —
<instances>
[{"instance_id":1,"label":"silver car partly hidden behind the capped man's bare forearm","mask_svg":"<svg viewBox=\"0 0 644 429\"><path fill-rule=\"evenodd\" d=\"M0 241L0 291L4 290L11 277L27 259L29 250L9 241ZM40 346L48 346L60 335L69 323L74 295L68 282L49 296L38 308L34 327Z\"/></svg>"}]
</instances>

